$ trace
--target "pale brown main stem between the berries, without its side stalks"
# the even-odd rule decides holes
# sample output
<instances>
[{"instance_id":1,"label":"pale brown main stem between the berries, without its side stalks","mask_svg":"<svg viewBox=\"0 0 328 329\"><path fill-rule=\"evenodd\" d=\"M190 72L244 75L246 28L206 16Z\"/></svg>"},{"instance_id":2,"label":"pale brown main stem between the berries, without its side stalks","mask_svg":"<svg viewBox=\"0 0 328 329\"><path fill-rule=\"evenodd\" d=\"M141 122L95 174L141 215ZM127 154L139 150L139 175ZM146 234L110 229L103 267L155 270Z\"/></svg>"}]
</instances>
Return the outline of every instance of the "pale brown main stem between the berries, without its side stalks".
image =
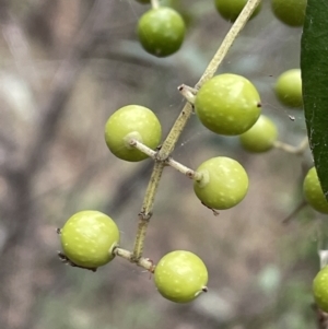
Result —
<instances>
[{"instance_id":1,"label":"pale brown main stem between the berries, without its side stalks","mask_svg":"<svg viewBox=\"0 0 328 329\"><path fill-rule=\"evenodd\" d=\"M204 73L201 75L200 80L196 84L196 89L199 90L204 82L211 79L219 66L221 64L222 60L226 56L229 49L233 45L234 40L251 16L253 12L257 8L257 5L261 2L261 0L249 0L246 5L244 7L243 11L241 12L238 19L234 22L231 30L226 34L225 38L223 39L222 44L220 45L216 54L210 61L209 66L207 67ZM156 1L152 0L152 5L155 5ZM152 215L153 203L155 199L155 193L160 184L160 179L162 177L163 169L165 167L165 162L167 161L168 156L173 152L175 144L180 137L180 133L185 129L185 126L190 118L192 113L192 105L190 103L186 103L183 110L180 111L179 116L177 117L176 121L174 122L169 133L167 134L165 141L161 150L157 153L156 162L145 191L145 196L142 203L142 209L139 214L139 224L138 231L132 252L133 261L138 262L141 259L144 237L147 233L147 227Z\"/></svg>"}]
</instances>

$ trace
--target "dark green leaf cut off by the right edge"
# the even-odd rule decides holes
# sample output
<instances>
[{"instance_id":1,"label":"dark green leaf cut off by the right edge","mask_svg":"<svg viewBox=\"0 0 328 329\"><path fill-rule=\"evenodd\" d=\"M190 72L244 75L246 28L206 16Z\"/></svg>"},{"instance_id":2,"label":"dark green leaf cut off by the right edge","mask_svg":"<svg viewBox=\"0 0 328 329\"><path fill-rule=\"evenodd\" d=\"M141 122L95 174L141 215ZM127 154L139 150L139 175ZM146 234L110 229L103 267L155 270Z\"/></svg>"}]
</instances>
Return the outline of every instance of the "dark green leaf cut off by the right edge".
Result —
<instances>
[{"instance_id":1,"label":"dark green leaf cut off by the right edge","mask_svg":"<svg viewBox=\"0 0 328 329\"><path fill-rule=\"evenodd\" d=\"M328 0L307 0L301 69L309 146L328 200Z\"/></svg>"}]
</instances>

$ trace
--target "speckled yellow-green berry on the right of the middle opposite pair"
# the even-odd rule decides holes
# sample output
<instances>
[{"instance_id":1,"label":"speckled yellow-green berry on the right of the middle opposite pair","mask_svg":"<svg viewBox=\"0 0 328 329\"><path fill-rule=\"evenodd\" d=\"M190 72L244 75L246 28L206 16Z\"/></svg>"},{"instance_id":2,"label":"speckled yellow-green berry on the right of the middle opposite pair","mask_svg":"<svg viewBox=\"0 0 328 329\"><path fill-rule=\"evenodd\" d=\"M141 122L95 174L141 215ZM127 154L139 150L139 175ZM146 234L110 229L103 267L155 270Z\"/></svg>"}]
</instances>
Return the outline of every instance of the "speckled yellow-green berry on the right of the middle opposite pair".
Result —
<instances>
[{"instance_id":1,"label":"speckled yellow-green berry on the right of the middle opposite pair","mask_svg":"<svg viewBox=\"0 0 328 329\"><path fill-rule=\"evenodd\" d=\"M248 176L235 160L218 156L203 162L197 173L202 179L194 179L194 190L206 205L224 210L238 204L248 190Z\"/></svg>"}]
</instances>

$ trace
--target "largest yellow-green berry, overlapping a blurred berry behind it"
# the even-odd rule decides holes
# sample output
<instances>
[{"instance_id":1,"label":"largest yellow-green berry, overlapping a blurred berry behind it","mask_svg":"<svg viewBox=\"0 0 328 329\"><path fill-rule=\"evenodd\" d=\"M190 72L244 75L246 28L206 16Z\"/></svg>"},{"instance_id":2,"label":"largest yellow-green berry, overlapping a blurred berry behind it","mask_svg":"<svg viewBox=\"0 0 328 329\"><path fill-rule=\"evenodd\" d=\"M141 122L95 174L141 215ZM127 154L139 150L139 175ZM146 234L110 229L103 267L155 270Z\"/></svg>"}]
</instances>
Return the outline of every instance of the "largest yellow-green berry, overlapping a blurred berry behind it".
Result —
<instances>
[{"instance_id":1,"label":"largest yellow-green berry, overlapping a blurred berry behind it","mask_svg":"<svg viewBox=\"0 0 328 329\"><path fill-rule=\"evenodd\" d=\"M195 110L209 130L226 136L247 131L260 116L260 97L244 77L220 74L206 82L195 99Z\"/></svg>"}]
</instances>

